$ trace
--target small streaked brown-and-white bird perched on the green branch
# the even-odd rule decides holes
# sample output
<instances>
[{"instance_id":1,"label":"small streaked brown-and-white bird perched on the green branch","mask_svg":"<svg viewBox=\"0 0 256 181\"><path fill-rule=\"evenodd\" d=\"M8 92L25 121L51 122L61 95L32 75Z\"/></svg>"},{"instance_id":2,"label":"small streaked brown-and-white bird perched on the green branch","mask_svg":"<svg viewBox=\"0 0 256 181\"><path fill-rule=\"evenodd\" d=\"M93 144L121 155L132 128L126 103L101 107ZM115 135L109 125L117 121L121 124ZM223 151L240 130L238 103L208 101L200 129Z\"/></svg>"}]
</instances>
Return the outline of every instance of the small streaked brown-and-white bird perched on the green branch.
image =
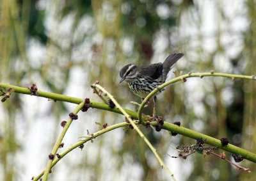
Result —
<instances>
[{"instance_id":1,"label":"small streaked brown-and-white bird perched on the green branch","mask_svg":"<svg viewBox=\"0 0 256 181\"><path fill-rule=\"evenodd\" d=\"M135 64L125 65L120 70L120 82L127 82L132 93L143 99L158 86L166 81L174 63L184 56L183 53L170 54L163 63L154 63L148 66L137 66ZM160 90L159 92L163 91ZM153 116L156 116L156 95L153 97Z\"/></svg>"}]
</instances>

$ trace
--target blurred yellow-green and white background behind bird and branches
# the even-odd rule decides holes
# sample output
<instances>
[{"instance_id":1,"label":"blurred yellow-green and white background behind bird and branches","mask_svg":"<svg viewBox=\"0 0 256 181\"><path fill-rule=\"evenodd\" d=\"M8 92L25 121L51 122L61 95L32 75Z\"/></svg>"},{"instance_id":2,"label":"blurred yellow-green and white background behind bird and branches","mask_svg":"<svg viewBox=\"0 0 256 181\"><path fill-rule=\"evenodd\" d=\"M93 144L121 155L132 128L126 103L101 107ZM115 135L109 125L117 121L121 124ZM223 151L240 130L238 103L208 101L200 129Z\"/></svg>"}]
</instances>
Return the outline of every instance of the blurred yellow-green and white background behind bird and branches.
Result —
<instances>
[{"instance_id":1,"label":"blurred yellow-green and white background behind bird and branches","mask_svg":"<svg viewBox=\"0 0 256 181\"><path fill-rule=\"evenodd\" d=\"M172 52L185 56L175 70L255 74L256 1L0 1L1 83L28 86L74 97L90 97L90 84L100 83L129 109L140 102L119 70L128 63L164 61ZM173 74L170 75L173 77ZM255 152L256 84L248 80L205 77L188 79L158 96L157 114L167 122ZM41 171L74 105L53 103L28 95L12 95L0 104L0 180L29 180ZM145 109L150 114L152 106ZM124 117L91 110L79 114L65 138L97 130L95 121L109 125ZM195 140L141 128L179 180L253 180L252 170L237 171L227 162L195 154L172 159L178 145ZM67 148L67 147L64 147ZM76 153L77 152L77 153ZM221 150L218 151L221 153ZM40 157L38 158L38 155ZM227 158L231 159L227 153ZM51 180L168 180L156 158L135 131L115 130L83 152L76 150L53 169Z\"/></svg>"}]
</instances>

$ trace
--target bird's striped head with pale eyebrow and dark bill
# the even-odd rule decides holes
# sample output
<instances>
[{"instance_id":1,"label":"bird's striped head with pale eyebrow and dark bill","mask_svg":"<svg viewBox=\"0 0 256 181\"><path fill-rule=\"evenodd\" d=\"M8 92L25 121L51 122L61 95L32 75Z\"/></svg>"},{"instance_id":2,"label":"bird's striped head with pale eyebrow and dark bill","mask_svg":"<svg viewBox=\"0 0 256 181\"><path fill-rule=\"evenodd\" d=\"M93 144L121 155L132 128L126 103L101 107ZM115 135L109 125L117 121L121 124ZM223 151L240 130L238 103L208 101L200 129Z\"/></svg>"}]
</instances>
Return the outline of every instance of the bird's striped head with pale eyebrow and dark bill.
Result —
<instances>
[{"instance_id":1,"label":"bird's striped head with pale eyebrow and dark bill","mask_svg":"<svg viewBox=\"0 0 256 181\"><path fill-rule=\"evenodd\" d=\"M120 70L121 79L119 83L122 83L122 81L125 81L127 83L131 82L131 79L136 77L136 69L137 69L137 66L134 64L130 63L128 65L125 65L125 67L123 67Z\"/></svg>"}]
</instances>

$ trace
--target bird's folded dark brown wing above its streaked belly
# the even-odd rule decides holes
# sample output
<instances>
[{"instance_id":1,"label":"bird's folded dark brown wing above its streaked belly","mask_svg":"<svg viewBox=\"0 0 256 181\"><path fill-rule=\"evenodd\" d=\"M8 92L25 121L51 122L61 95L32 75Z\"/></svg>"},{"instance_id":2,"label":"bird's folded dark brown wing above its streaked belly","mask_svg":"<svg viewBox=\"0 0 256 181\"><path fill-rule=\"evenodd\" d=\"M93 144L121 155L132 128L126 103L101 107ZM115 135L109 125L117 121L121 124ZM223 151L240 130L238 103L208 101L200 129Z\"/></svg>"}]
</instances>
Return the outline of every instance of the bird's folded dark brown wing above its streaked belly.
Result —
<instances>
[{"instance_id":1,"label":"bird's folded dark brown wing above its streaked belly","mask_svg":"<svg viewBox=\"0 0 256 181\"><path fill-rule=\"evenodd\" d=\"M152 79L158 79L163 74L163 63L154 63L145 67L140 67L140 73Z\"/></svg>"}]
</instances>

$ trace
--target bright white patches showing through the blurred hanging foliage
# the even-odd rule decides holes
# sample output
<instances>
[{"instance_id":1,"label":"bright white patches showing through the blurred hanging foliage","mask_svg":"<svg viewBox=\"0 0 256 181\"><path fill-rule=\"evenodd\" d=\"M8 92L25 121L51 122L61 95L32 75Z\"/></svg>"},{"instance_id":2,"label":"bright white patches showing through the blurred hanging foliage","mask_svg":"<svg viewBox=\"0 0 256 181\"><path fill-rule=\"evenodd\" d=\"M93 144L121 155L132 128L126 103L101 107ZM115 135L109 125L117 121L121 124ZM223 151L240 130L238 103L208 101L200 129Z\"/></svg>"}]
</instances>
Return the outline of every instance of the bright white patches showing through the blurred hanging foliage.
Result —
<instances>
[{"instance_id":1,"label":"bright white patches showing through the blurred hanging foliage","mask_svg":"<svg viewBox=\"0 0 256 181\"><path fill-rule=\"evenodd\" d=\"M179 1L177 1L179 3ZM217 4L220 4L221 7L225 7L225 13L232 19L230 24L225 24L225 22L221 23L221 28L225 33L223 34L223 37L221 38L221 43L228 45L228 51L227 55L220 55L218 59L214 59L214 65L216 65L216 70L218 69L218 72L230 72L230 63L226 61L227 56L236 56L237 52L240 52L242 49L241 44L243 44L243 40L241 40L241 37L239 36L240 32L243 32L245 29L248 28L248 21L243 16L245 12L244 8L244 1L232 1L232 0L225 0L225 1L211 1L211 0L198 0L195 1L197 4L197 10L201 14L202 18L202 26L200 26L200 29L196 27L195 24L191 24L191 21L189 19L193 19L193 17L189 17L189 14L182 15L182 19L180 21L181 26L179 27L179 30L177 31L177 35L179 35L179 38L188 38L188 37L195 37L195 42L191 45L187 45L188 47L196 47L198 45L198 41L196 40L196 36L198 34L198 31L201 31L204 33L204 47L205 52L211 52L216 47L216 42L214 41L214 38L212 36L216 34L216 24L214 22L218 17L216 16L216 11L218 11ZM38 8L46 8L47 11L51 12L52 7L48 6L48 4L45 3L44 0L38 1ZM159 6L159 15L161 17L164 17L165 15L168 15L170 13L170 10L168 10L168 7L166 6ZM54 12L54 11L52 11ZM51 13L49 13L49 17L47 17L47 20L45 22L45 28L47 29L48 35L51 37L56 37L56 41L58 40L58 37L64 37L64 40L61 41L65 42L65 39L67 38L67 42L69 42L68 37L69 36L63 36L63 35L70 35L71 24L74 20L74 15L70 14L67 16L67 18L63 19L61 22L58 20L52 19ZM87 15L84 16L83 20L81 21L81 25L79 26L74 33L77 38L79 38L79 32L85 31L90 33L92 29L95 29L93 27L93 19L92 17L89 17ZM53 29L53 30L52 30ZM55 29L55 30L54 30ZM230 32L234 32L232 36L230 36ZM56 34L54 34L56 33ZM156 54L152 58L152 62L158 62L161 61L161 59L164 59L166 57L166 54L161 54L163 50L165 49L164 46L167 45L165 42L164 35L162 35L160 32L159 35L157 35L156 42L154 45L154 49L156 50ZM102 36L98 33L92 37L93 42L95 43L101 43L102 42ZM132 42L131 39L124 39L123 42L123 49L127 54L129 54L129 51L132 50ZM62 43L63 46L65 46L65 43ZM28 44L28 55L29 55L29 61L31 62L31 65L35 67L39 67L40 64L43 63L45 58L45 52L47 50L43 45L40 44L40 42L36 39L29 40ZM81 48L78 47L76 52L74 53L74 60L79 61L79 59L83 58L83 56L87 56L90 58L92 56L92 52L90 52L90 49L86 49L85 47L90 47L88 42L84 41L83 45L81 45ZM65 60L63 60L65 61ZM197 72L196 67L193 66L193 62L197 61L197 57L193 51L187 51L186 56L182 59L182 61L179 61L177 63L177 67L179 67L180 70L182 70L182 67L190 66L192 72ZM60 72L59 72L60 73ZM56 72L58 74L58 72ZM47 90L47 88L44 86L44 83L40 81L40 75L35 75L34 77L38 77L36 79L36 84L40 90ZM72 83L67 83L67 90L65 91L65 95L72 96L72 97L90 97L92 100L100 101L99 98L97 98L96 95L92 94L92 90L90 86L83 87L84 84L86 84L86 72L81 67L75 67L72 68L70 72L70 80L72 80ZM61 81L61 80L60 80ZM29 83L28 80L24 80L24 84ZM118 84L118 82L116 82ZM198 100L198 98L202 97L204 94L202 91L199 91L202 88L202 80L200 79L191 79L188 81L188 83L184 84L185 88L189 88L189 91L191 91L191 99L189 100L191 103L193 102L193 106L195 109L195 113L200 116L200 114L204 114L202 110L202 102L195 102L195 100ZM72 85L72 89L70 89ZM227 90L228 91L228 90ZM232 100L232 95L230 97L226 97L227 94L223 94L223 99L227 102L230 102ZM54 116L52 116L50 105L54 104L52 102L49 102L46 98L40 98L40 97L32 97L29 95L21 95L22 102L24 103L23 111L25 114L24 117L20 116L21 114L17 114L17 120L19 120L20 124L17 124L19 126L19 129L17 129L19 132L17 133L17 139L22 143L22 151L17 153L17 156L15 158L17 164L17 170L20 170L20 177L19 180L29 180L32 176L37 175L42 169L46 166L47 156L51 152L52 145L49 145L49 141L52 142L53 135L52 132L55 132L56 135L58 135L61 131L60 122L61 120L67 120L68 113L63 114L61 116L60 120L54 120ZM159 96L159 98L163 98L163 95ZM188 102L189 103L189 102ZM68 111L72 112L74 108L76 107L75 104L66 104L68 107ZM4 120L4 113L3 113L3 107L0 104L0 120ZM95 122L99 122L99 116L95 114L95 110L89 109L87 113L79 113L79 120L75 122L79 123L72 123L70 129L68 130L63 142L65 143L65 148L68 148L68 146L73 145L78 140L79 136L86 136L86 129L89 129L90 132L93 132L97 130L97 127L95 125ZM86 122L86 119L90 117L90 120L93 120L92 122ZM111 116L109 116L111 118ZM120 116L122 118L122 116ZM106 118L108 120L108 118ZM204 127L204 123L200 120L197 122L194 122L195 125L191 125L190 129L194 129L197 131L200 131L200 128L202 129ZM200 125L200 126L198 126ZM24 132L26 127L29 127L29 132ZM84 129L86 128L86 129ZM157 133L159 136L161 134L165 133ZM118 135L118 136L116 136ZM104 141L108 143L111 141L111 143L114 143L116 146L116 149L118 147L122 146L122 136L124 136L122 129L117 129L112 132L109 132L108 135L103 135L106 137ZM175 139L172 139L172 143L170 143L170 149L168 154L170 155L177 155L177 150L175 149L176 141L178 141L181 138L181 136L175 137ZM97 139L95 139L95 142L97 142ZM110 142L109 142L110 143ZM108 167L109 162L113 162L115 164L115 160L111 160L111 152L108 148L108 145L111 144L105 144L106 148L100 150L103 155L106 155L106 159L102 159L102 164L106 165L106 170L104 170L105 173L102 174L101 180L113 180L113 175L115 175L115 180L127 180L127 178L132 178L132 180L140 180L140 166L134 166L134 164L129 165L129 162L127 162L127 166L125 168L129 168L127 170L122 170L120 173L114 173L111 168ZM65 148L62 148L61 151L65 150ZM148 149L149 150L149 149ZM50 175L49 180L65 180L67 177L71 177L69 180L76 180L77 176L76 173L66 173L65 167L72 166L76 164L76 160L79 161L82 155L87 155L87 157L90 157L90 162L95 162L95 158L93 157L93 154L97 154L99 150L97 150L97 144L92 143L86 143L84 145L84 150L81 152L79 149L75 149L71 153L69 153L66 157L64 157L54 168L53 170L63 170L61 175L55 175L56 177L52 177ZM152 154L148 152L148 154ZM79 156L77 156L79 155ZM89 156L90 155L90 156ZM45 159L43 159L45 157ZM104 156L103 156L104 157ZM124 155L124 157L127 157L125 159L129 160L129 156ZM168 155L161 155L161 157L168 157ZM10 158L10 161L13 158ZM187 177L189 173L192 171L193 166L193 156L188 157L186 161L183 161L182 159L166 159L166 165L170 170L174 173L177 180L183 180L184 177ZM65 163L65 164L64 164ZM152 161L152 164L158 164L156 160ZM184 168L184 165L186 164L186 169ZM130 169L131 168L131 169ZM204 168L204 166L202 166ZM70 170L70 169L68 169ZM182 171L180 171L182 170ZM111 171L113 174L111 174ZM130 173L137 175L131 175ZM166 175L166 178L168 178L168 175L166 174L166 171L163 169L161 171L161 174ZM218 176L218 170L214 172L213 177ZM72 175L74 175L74 178L72 179ZM81 180L90 179L90 177L86 177L86 175L90 174L83 174L84 178L81 178ZM0 176L1 178L1 176ZM111 179L112 178L112 179Z\"/></svg>"}]
</instances>

